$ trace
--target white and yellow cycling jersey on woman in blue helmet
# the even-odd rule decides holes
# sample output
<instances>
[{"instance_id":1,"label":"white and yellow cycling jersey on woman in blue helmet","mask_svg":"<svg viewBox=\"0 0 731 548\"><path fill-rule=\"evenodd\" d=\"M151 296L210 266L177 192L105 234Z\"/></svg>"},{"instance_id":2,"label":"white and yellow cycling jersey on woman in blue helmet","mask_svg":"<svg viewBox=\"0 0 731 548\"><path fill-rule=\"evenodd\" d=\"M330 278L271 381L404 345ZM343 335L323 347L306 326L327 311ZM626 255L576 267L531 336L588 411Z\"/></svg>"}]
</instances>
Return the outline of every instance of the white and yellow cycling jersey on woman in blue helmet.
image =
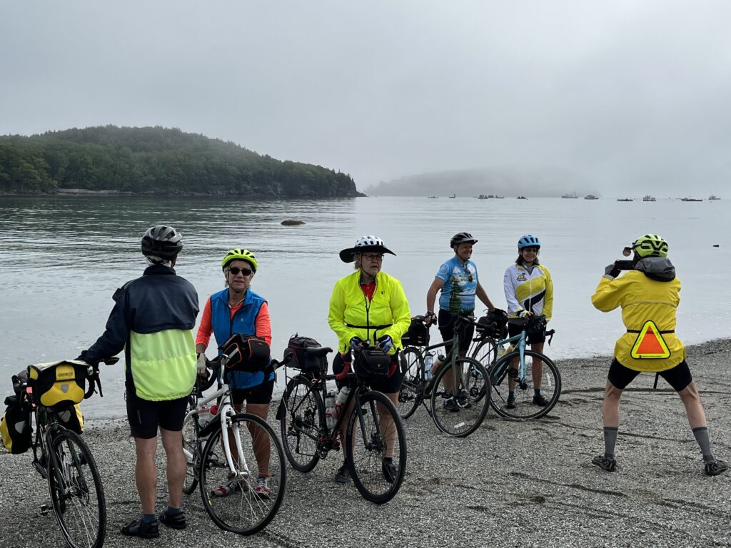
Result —
<instances>
[{"instance_id":1,"label":"white and yellow cycling jersey on woman in blue helmet","mask_svg":"<svg viewBox=\"0 0 731 548\"><path fill-rule=\"evenodd\" d=\"M550 320L553 315L553 281L548 268L543 265L525 267L511 265L503 278L507 313L517 318L523 311L537 316L543 314Z\"/></svg>"}]
</instances>

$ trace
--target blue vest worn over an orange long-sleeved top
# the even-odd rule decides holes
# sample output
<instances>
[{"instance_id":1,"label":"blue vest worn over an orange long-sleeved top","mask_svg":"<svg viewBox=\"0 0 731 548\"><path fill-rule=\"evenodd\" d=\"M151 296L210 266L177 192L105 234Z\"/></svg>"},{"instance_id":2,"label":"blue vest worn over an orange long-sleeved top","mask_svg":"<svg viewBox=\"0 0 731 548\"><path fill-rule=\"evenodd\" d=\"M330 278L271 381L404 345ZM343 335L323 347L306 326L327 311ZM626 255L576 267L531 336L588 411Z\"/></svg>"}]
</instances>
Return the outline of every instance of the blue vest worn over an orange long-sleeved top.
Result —
<instances>
[{"instance_id":1,"label":"blue vest worn over an orange long-sleeved top","mask_svg":"<svg viewBox=\"0 0 731 548\"><path fill-rule=\"evenodd\" d=\"M251 289L246 290L246 297L243 305L231 317L231 309L228 305L228 288L211 295L211 326L213 336L216 338L216 345L221 346L231 338L231 335L240 333L242 335L256 335L257 314L266 300ZM219 349L219 354L221 350ZM271 357L269 358L271 360ZM244 373L233 371L229 375L229 386L231 388L243 389L258 387L264 382L264 373ZM271 373L269 380L274 380L274 373ZM219 375L219 382L221 376Z\"/></svg>"}]
</instances>

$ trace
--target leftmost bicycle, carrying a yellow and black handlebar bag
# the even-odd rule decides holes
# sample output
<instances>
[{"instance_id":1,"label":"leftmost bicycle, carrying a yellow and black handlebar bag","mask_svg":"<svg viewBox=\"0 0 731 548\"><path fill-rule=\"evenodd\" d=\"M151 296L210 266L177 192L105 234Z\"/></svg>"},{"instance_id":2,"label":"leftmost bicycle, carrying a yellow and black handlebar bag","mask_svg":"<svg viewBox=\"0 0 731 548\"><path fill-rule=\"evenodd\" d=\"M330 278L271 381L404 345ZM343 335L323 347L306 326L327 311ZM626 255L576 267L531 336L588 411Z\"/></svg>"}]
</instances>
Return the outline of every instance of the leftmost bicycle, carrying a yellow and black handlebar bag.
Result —
<instances>
[{"instance_id":1,"label":"leftmost bicycle, carrying a yellow and black handlebar bag","mask_svg":"<svg viewBox=\"0 0 731 548\"><path fill-rule=\"evenodd\" d=\"M103 361L111 365L118 358ZM37 425L31 465L48 481L51 500L50 508L41 506L41 513L53 509L70 548L101 548L107 533L107 507L99 469L86 441L65 427L61 418L75 413L73 406L91 397L96 387L102 397L99 367L66 360L31 368L33 373L27 376L25 372L13 376L12 384L15 397L30 408ZM87 380L89 387L84 391L79 381Z\"/></svg>"}]
</instances>

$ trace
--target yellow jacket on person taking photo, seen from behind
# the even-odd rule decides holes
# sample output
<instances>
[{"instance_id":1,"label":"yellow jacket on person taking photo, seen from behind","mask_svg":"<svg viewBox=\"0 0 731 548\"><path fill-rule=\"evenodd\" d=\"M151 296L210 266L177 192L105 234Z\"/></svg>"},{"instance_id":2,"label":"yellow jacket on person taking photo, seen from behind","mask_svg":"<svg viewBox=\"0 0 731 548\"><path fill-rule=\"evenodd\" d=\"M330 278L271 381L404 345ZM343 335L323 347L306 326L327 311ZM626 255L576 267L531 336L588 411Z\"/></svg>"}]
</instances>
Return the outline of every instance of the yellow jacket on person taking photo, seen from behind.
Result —
<instances>
[{"instance_id":1,"label":"yellow jacket on person taking photo, seen from behind","mask_svg":"<svg viewBox=\"0 0 731 548\"><path fill-rule=\"evenodd\" d=\"M645 259L646 260L646 259ZM664 371L674 368L686 357L685 346L675 335L675 312L680 302L681 282L675 278L656 281L639 270L630 270L614 280L602 278L591 303L602 312L622 308L627 330L614 346L614 357L635 371ZM653 321L670 351L667 358L633 358L632 349L646 321Z\"/></svg>"}]
</instances>

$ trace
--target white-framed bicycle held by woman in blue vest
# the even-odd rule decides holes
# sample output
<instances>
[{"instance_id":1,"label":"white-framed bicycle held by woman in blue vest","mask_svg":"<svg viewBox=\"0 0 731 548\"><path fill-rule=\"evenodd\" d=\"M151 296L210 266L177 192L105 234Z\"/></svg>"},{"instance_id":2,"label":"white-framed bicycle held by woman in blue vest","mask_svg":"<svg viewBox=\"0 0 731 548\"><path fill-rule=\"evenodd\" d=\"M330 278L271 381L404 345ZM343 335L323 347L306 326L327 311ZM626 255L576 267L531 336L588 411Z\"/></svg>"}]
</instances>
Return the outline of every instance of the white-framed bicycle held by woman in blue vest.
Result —
<instances>
[{"instance_id":1,"label":"white-framed bicycle held by woman in blue vest","mask_svg":"<svg viewBox=\"0 0 731 548\"><path fill-rule=\"evenodd\" d=\"M183 452L188 462L183 492L189 495L200 484L203 506L219 528L252 535L265 528L279 511L287 471L273 428L259 416L238 413L227 384L209 396L202 395L228 358L221 354L209 361L213 371L208 381L197 382L189 397L183 422ZM280 363L272 360L270 365L276 370ZM211 413L208 405L216 401L216 410ZM206 425L200 420L204 410L208 417L213 415Z\"/></svg>"}]
</instances>

